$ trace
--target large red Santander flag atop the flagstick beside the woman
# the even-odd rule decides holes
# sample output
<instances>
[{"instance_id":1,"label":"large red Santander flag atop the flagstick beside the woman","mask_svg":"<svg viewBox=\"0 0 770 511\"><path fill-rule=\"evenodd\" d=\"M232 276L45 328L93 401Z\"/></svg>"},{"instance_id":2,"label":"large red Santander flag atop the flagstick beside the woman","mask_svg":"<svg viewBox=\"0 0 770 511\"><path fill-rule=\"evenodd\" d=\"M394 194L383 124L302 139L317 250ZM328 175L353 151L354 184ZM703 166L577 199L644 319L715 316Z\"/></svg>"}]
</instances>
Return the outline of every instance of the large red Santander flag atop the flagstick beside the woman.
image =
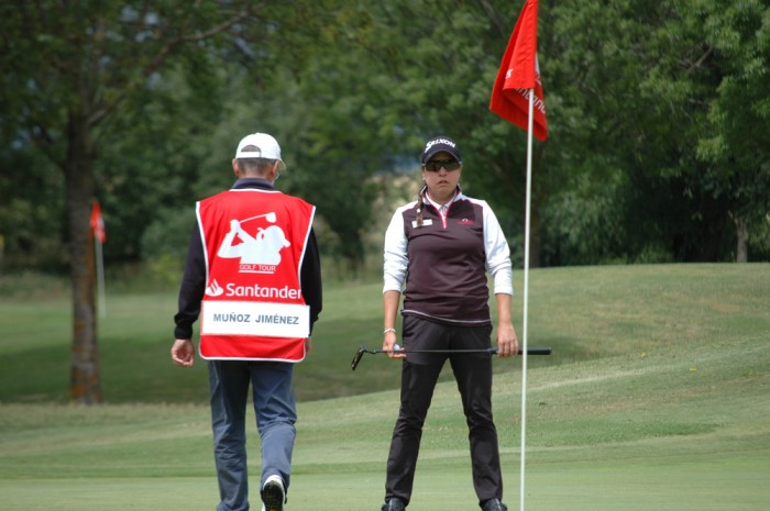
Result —
<instances>
[{"instance_id":1,"label":"large red Santander flag atop the flagstick beside the woman","mask_svg":"<svg viewBox=\"0 0 770 511\"><path fill-rule=\"evenodd\" d=\"M492 88L490 110L527 131L529 89L535 89L532 134L544 141L548 137L546 97L540 82L537 51L538 0L527 0L503 55L497 79Z\"/></svg>"}]
</instances>

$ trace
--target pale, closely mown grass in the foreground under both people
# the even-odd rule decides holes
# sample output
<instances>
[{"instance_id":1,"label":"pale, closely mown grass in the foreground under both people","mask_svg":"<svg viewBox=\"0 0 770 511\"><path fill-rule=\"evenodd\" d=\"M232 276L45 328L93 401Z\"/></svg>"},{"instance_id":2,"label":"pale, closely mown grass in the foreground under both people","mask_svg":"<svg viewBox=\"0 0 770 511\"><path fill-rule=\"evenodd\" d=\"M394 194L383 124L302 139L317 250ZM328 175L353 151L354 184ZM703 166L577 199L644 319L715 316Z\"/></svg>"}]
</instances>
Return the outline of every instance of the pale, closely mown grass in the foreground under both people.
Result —
<instances>
[{"instance_id":1,"label":"pale, closely mown grass in the foreground under both people","mask_svg":"<svg viewBox=\"0 0 770 511\"><path fill-rule=\"evenodd\" d=\"M531 369L526 509L767 510L769 368L767 340L746 337ZM513 511L520 498L518 378L498 376L494 400ZM392 390L301 403L287 510L378 509L397 406ZM6 510L216 506L205 406L4 404L0 412ZM253 431L249 445L256 477ZM477 509L451 382L437 389L409 509Z\"/></svg>"}]
</instances>

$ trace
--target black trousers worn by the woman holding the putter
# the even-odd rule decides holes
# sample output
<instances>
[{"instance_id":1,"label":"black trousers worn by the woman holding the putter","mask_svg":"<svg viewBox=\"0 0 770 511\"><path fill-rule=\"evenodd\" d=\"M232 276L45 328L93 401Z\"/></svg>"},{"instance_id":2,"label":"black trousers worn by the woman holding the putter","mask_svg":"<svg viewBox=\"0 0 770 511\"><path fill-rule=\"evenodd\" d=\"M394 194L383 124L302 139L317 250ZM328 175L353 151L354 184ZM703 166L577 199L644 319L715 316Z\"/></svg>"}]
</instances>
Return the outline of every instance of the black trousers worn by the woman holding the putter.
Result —
<instances>
[{"instance_id":1,"label":"black trousers worn by the woman holding the putter","mask_svg":"<svg viewBox=\"0 0 770 511\"><path fill-rule=\"evenodd\" d=\"M402 342L409 349L486 349L492 325L455 326L404 318ZM430 401L449 358L469 429L473 487L480 503L503 498L497 430L492 416L492 357L487 353L409 354L402 368L402 404L387 458L385 499L409 503Z\"/></svg>"}]
</instances>

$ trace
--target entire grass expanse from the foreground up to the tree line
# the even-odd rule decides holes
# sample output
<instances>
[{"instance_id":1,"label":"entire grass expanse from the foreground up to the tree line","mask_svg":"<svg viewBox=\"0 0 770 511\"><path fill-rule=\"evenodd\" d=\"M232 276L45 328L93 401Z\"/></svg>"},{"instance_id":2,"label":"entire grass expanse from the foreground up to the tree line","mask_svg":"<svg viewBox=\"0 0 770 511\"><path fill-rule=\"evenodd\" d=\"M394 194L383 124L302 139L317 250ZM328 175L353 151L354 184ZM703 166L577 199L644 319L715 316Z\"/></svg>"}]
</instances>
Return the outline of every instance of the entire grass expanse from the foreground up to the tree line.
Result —
<instances>
[{"instance_id":1,"label":"entire grass expanse from the foreground up to the tree line","mask_svg":"<svg viewBox=\"0 0 770 511\"><path fill-rule=\"evenodd\" d=\"M554 353L528 359L527 510L770 509L770 265L556 268L534 273L530 286L530 345L551 345ZM358 345L351 340L382 327L372 293L375 286L328 293L328 323L319 323L318 345L298 378L330 399L300 399L287 511L382 506L398 365L366 355L350 370ZM50 315L25 327L30 307L0 303L0 382L10 387L0 390L3 510L215 509L209 410L200 398L205 368L166 374L153 357L166 364L167 324L139 312L144 304L165 315L173 304L164 300L129 297L110 309L105 387L122 398L99 407L52 398L54 385L29 353L59 364L47 355L56 345L50 331L62 321L59 304L40 303L35 310ZM10 343L10 333L29 345ZM324 367L315 371L319 364ZM504 500L514 511L521 358L498 359L495 367ZM197 390L178 391L184 386ZM253 425L249 451L255 480ZM252 496L258 511L255 490ZM426 423L408 510L477 509L460 398L444 381Z\"/></svg>"}]
</instances>

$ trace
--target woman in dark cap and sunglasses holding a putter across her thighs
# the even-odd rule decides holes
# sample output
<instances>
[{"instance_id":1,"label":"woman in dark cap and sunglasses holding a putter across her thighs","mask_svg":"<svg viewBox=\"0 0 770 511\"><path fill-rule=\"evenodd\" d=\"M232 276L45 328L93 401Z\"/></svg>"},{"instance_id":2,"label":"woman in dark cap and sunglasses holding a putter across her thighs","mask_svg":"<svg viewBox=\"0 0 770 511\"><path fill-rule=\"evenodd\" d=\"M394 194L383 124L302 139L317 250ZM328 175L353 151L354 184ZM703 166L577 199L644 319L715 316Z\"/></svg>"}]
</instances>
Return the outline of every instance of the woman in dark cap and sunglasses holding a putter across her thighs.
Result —
<instances>
[{"instance_id":1,"label":"woman in dark cap and sunglasses holding a putter across her thighs","mask_svg":"<svg viewBox=\"0 0 770 511\"><path fill-rule=\"evenodd\" d=\"M506 511L502 502L497 430L492 416L488 353L394 353L396 312L404 289L402 343L410 349L491 347L487 276L497 303L497 355L518 352L510 320L510 253L495 214L460 189L462 159L447 136L426 143L424 187L398 208L385 234L383 351L403 358L402 402L391 441L383 511L403 511L411 498L415 467L437 379L449 358L469 426L473 486L483 511Z\"/></svg>"}]
</instances>

